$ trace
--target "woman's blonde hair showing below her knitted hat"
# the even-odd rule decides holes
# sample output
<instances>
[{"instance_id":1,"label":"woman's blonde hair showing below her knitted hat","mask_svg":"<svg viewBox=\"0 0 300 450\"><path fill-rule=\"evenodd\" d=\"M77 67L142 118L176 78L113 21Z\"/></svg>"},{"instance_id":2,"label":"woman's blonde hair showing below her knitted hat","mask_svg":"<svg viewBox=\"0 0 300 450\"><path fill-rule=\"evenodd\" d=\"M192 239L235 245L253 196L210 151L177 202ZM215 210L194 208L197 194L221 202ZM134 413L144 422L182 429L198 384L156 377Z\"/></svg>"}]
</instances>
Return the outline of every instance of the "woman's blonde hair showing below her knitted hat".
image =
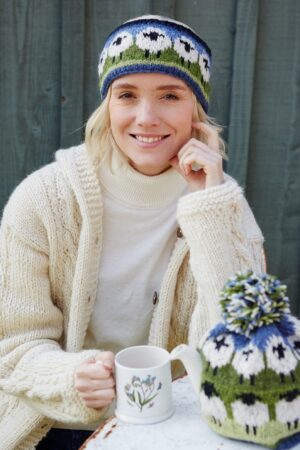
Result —
<instances>
[{"instance_id":1,"label":"woman's blonde hair showing below her knitted hat","mask_svg":"<svg viewBox=\"0 0 300 450\"><path fill-rule=\"evenodd\" d=\"M224 159L227 159L225 142L220 137L223 128L218 125L214 121L214 119L212 119L205 113L201 104L197 101L196 96L194 94L192 95L195 103L193 120L204 122L217 131L219 137L220 154ZM121 159L123 159L124 161L126 160L111 133L109 116L110 97L111 87L109 88L108 93L101 105L92 113L92 115L88 119L85 127L85 144L92 162L95 165L100 164L104 156L111 153L112 151L117 151L120 154ZM193 129L192 137L207 143L207 136L200 130Z\"/></svg>"}]
</instances>

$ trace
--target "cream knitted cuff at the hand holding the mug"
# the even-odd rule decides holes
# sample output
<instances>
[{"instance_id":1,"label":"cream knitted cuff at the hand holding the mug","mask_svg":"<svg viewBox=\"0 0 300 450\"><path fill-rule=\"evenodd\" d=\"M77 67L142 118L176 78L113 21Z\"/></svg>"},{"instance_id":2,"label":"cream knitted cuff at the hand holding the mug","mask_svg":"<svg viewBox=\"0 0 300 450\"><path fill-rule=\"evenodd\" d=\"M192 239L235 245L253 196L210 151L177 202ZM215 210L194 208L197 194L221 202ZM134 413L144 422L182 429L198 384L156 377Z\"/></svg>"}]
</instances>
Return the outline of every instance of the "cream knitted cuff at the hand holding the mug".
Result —
<instances>
[{"instance_id":1,"label":"cream knitted cuff at the hand holding the mug","mask_svg":"<svg viewBox=\"0 0 300 450\"><path fill-rule=\"evenodd\" d=\"M18 396L43 415L60 422L92 423L101 417L101 411L88 408L74 386L76 367L99 350L79 353L49 351L1 381L2 389Z\"/></svg>"}]
</instances>

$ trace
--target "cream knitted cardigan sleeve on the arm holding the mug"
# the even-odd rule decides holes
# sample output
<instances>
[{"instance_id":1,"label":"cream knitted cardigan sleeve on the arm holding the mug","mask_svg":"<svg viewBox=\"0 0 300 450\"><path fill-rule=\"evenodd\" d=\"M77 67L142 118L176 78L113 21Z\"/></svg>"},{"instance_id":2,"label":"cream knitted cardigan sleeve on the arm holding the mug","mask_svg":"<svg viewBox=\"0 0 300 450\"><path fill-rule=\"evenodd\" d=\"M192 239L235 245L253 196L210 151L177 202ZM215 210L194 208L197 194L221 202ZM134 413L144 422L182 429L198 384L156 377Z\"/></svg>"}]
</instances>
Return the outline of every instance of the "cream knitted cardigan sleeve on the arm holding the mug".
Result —
<instances>
[{"instance_id":1,"label":"cream knitted cardigan sleeve on the arm holding the mug","mask_svg":"<svg viewBox=\"0 0 300 450\"><path fill-rule=\"evenodd\" d=\"M51 295L49 236L28 195L32 186L31 178L17 188L0 230L0 389L49 418L93 422L101 411L78 396L74 370L98 351L60 346L63 315ZM38 197L44 210L42 190Z\"/></svg>"}]
</instances>

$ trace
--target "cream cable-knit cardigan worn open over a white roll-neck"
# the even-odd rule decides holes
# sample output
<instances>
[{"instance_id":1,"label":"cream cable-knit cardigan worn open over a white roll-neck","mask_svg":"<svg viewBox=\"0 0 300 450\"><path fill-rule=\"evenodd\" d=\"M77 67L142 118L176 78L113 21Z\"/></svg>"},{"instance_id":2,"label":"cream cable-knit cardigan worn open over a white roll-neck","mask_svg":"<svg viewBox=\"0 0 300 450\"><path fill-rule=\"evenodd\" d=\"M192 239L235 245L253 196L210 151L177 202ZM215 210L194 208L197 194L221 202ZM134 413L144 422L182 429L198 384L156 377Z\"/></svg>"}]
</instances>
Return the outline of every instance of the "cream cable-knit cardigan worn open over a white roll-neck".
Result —
<instances>
[{"instance_id":1,"label":"cream cable-knit cardigan worn open over a white roll-neck","mask_svg":"<svg viewBox=\"0 0 300 450\"><path fill-rule=\"evenodd\" d=\"M89 423L73 386L101 255L101 190L84 145L14 191L0 233L0 449L34 449L54 420ZM182 197L178 238L149 342L173 348L218 320L217 298L236 270L263 269L263 237L241 188L224 184Z\"/></svg>"}]
</instances>

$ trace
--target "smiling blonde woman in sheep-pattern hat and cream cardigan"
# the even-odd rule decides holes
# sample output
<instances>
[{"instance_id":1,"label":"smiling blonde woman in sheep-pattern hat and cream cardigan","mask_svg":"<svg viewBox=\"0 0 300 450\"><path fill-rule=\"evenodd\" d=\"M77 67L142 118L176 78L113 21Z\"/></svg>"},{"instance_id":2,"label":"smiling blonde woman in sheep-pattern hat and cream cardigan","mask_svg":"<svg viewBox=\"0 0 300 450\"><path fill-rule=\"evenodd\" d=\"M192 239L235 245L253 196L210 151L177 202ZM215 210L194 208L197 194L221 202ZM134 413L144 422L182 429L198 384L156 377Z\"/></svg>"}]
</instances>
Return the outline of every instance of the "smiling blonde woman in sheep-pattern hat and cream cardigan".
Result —
<instances>
[{"instance_id":1,"label":"smiling blonde woman in sheep-pattern hat and cream cardigan","mask_svg":"<svg viewBox=\"0 0 300 450\"><path fill-rule=\"evenodd\" d=\"M1 449L79 447L109 414L116 351L196 346L225 279L263 270L261 231L206 114L210 60L171 19L118 27L85 144L12 194L0 238Z\"/></svg>"}]
</instances>

